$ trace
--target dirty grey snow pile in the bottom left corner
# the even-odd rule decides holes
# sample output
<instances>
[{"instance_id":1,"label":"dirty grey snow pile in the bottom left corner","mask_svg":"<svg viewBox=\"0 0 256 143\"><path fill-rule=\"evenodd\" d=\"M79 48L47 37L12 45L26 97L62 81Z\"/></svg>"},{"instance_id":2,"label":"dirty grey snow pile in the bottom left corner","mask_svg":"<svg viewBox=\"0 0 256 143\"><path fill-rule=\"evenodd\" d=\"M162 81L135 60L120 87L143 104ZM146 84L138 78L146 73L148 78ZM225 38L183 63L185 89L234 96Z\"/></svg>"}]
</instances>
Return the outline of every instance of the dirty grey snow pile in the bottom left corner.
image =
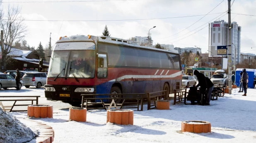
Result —
<instances>
[{"instance_id":1,"label":"dirty grey snow pile in the bottom left corner","mask_svg":"<svg viewBox=\"0 0 256 143\"><path fill-rule=\"evenodd\" d=\"M0 143L24 143L34 136L31 129L0 108Z\"/></svg>"}]
</instances>

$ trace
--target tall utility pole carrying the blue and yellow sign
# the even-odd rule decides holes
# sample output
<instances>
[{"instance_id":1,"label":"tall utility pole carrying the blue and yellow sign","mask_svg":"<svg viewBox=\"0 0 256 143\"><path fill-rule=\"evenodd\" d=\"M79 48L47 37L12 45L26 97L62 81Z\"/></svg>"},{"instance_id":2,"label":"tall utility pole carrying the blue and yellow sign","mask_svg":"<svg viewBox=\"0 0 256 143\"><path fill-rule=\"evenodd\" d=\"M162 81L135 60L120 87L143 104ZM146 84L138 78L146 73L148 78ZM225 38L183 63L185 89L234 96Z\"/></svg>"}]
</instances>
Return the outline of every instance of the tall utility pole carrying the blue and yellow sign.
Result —
<instances>
[{"instance_id":1,"label":"tall utility pole carrying the blue and yellow sign","mask_svg":"<svg viewBox=\"0 0 256 143\"><path fill-rule=\"evenodd\" d=\"M232 48L231 48L231 9L230 9L230 1L228 1L228 93L232 94L232 82L231 82L231 75L232 75Z\"/></svg>"}]
</instances>

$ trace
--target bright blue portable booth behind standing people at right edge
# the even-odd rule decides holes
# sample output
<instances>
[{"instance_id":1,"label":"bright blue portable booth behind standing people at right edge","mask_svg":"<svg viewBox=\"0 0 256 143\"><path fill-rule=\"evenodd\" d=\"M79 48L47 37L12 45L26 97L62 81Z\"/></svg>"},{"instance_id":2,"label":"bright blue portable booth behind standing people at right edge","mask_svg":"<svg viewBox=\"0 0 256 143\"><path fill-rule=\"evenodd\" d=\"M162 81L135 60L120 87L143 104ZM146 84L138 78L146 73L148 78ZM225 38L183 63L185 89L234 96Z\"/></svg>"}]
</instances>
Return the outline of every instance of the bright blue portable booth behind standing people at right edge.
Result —
<instances>
[{"instance_id":1,"label":"bright blue portable booth behind standing people at right edge","mask_svg":"<svg viewBox=\"0 0 256 143\"><path fill-rule=\"evenodd\" d=\"M237 68L236 70L236 81L235 84L239 86L240 84L240 72L243 72L244 68ZM246 73L248 74L248 88L254 88L254 77L256 75L256 69L246 68Z\"/></svg>"}]
</instances>

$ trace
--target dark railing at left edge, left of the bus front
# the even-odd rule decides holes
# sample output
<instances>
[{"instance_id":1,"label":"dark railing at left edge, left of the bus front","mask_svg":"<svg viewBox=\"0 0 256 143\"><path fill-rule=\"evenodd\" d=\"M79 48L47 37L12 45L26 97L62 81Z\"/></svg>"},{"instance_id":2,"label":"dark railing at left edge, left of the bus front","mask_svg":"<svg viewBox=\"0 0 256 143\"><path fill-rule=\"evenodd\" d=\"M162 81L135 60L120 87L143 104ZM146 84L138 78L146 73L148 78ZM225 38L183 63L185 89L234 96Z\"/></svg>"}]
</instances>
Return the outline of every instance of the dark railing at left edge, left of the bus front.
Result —
<instances>
[{"instance_id":1,"label":"dark railing at left edge, left of the bus front","mask_svg":"<svg viewBox=\"0 0 256 143\"><path fill-rule=\"evenodd\" d=\"M14 106L27 106L27 105L33 105L34 101L36 101L36 105L38 105L38 98L40 96L0 96L0 98L31 98L31 97L35 97L35 99L0 99L0 106L2 106L2 110L9 111L9 112L21 112L21 111L27 111L27 110L12 110ZM4 106L2 104L2 101L14 101L12 106ZM18 104L16 105L17 101L31 101L31 104ZM6 109L8 108L8 109ZM10 108L10 109L9 109Z\"/></svg>"}]
</instances>

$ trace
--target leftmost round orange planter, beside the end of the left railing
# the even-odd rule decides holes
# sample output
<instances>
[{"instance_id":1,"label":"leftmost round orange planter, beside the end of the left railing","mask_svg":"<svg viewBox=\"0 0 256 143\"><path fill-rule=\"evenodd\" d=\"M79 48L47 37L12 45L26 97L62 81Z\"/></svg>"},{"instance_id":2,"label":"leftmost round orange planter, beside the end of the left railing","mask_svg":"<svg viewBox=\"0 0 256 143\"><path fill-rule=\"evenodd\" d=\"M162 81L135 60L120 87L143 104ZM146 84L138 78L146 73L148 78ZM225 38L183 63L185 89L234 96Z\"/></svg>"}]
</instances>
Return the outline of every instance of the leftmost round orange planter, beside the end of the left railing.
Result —
<instances>
[{"instance_id":1,"label":"leftmost round orange planter, beside the end of the left railing","mask_svg":"<svg viewBox=\"0 0 256 143\"><path fill-rule=\"evenodd\" d=\"M51 105L28 105L27 115L35 118L52 118L53 106Z\"/></svg>"}]
</instances>

